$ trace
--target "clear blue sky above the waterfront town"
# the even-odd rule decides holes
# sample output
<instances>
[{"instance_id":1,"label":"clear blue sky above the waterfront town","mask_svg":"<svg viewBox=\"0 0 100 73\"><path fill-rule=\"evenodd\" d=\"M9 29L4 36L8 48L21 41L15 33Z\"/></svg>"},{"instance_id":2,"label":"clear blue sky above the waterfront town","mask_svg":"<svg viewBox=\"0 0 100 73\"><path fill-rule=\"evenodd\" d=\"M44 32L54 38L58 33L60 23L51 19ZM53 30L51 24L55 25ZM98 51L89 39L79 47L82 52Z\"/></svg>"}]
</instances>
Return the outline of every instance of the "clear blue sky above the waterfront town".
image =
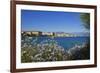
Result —
<instances>
[{"instance_id":1,"label":"clear blue sky above the waterfront town","mask_svg":"<svg viewBox=\"0 0 100 73\"><path fill-rule=\"evenodd\" d=\"M80 13L21 10L22 31L84 32Z\"/></svg>"}]
</instances>

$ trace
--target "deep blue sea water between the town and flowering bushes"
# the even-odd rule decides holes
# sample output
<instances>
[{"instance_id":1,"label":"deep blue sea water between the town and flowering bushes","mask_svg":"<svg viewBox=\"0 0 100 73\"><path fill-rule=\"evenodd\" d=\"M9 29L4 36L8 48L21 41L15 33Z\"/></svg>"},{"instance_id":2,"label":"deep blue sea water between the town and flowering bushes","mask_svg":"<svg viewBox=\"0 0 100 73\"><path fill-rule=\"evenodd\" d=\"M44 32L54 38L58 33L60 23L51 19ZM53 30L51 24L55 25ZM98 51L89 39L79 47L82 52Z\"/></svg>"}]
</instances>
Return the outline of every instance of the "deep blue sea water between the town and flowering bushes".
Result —
<instances>
[{"instance_id":1,"label":"deep blue sea water between the town and flowering bushes","mask_svg":"<svg viewBox=\"0 0 100 73\"><path fill-rule=\"evenodd\" d=\"M32 37L32 42L34 43L34 39L36 37ZM86 43L88 41L89 37L38 37L36 43L41 43L46 40L55 40L58 45L62 46L65 49L69 49L74 47L76 44L81 45L83 43Z\"/></svg>"}]
</instances>

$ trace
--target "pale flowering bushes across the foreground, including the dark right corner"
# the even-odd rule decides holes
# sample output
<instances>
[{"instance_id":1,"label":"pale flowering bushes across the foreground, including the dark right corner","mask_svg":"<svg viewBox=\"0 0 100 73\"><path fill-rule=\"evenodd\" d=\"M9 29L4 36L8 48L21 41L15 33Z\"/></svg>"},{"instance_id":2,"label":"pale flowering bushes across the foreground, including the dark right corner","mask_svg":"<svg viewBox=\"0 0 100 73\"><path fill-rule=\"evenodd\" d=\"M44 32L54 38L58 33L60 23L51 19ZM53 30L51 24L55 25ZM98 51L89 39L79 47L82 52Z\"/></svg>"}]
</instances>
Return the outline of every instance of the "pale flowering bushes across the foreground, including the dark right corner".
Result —
<instances>
[{"instance_id":1,"label":"pale flowering bushes across the foreground, including the dark right corner","mask_svg":"<svg viewBox=\"0 0 100 73\"><path fill-rule=\"evenodd\" d=\"M37 38L27 37L22 40L21 62L47 62L89 59L89 44L75 45L65 50L53 39L37 43Z\"/></svg>"}]
</instances>

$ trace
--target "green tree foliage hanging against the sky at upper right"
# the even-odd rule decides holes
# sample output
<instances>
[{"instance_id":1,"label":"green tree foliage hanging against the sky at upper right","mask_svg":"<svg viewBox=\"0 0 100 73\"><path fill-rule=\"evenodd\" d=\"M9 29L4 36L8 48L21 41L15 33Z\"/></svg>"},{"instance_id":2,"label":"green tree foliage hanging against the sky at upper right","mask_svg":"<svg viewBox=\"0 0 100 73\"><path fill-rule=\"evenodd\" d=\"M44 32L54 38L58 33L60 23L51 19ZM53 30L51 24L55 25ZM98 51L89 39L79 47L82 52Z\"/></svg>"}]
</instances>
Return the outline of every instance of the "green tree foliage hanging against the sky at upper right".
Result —
<instances>
[{"instance_id":1,"label":"green tree foliage hanging against the sky at upper right","mask_svg":"<svg viewBox=\"0 0 100 73\"><path fill-rule=\"evenodd\" d=\"M89 13L82 13L80 14L81 21L86 29L90 29L90 14Z\"/></svg>"}]
</instances>

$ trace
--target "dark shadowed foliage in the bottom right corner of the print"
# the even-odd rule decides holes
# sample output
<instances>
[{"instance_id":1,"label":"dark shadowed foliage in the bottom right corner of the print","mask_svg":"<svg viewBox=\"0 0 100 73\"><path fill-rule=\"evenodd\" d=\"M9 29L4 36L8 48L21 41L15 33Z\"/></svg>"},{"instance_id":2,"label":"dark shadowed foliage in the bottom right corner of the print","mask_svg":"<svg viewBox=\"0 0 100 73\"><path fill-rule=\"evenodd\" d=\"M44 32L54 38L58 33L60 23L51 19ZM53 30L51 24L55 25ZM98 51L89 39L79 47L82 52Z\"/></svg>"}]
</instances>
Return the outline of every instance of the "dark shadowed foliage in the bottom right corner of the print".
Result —
<instances>
[{"instance_id":1,"label":"dark shadowed foliage in the bottom right corner of the print","mask_svg":"<svg viewBox=\"0 0 100 73\"><path fill-rule=\"evenodd\" d=\"M70 60L85 60L90 59L90 45L87 43L80 50L74 50L74 53L71 53Z\"/></svg>"}]
</instances>

